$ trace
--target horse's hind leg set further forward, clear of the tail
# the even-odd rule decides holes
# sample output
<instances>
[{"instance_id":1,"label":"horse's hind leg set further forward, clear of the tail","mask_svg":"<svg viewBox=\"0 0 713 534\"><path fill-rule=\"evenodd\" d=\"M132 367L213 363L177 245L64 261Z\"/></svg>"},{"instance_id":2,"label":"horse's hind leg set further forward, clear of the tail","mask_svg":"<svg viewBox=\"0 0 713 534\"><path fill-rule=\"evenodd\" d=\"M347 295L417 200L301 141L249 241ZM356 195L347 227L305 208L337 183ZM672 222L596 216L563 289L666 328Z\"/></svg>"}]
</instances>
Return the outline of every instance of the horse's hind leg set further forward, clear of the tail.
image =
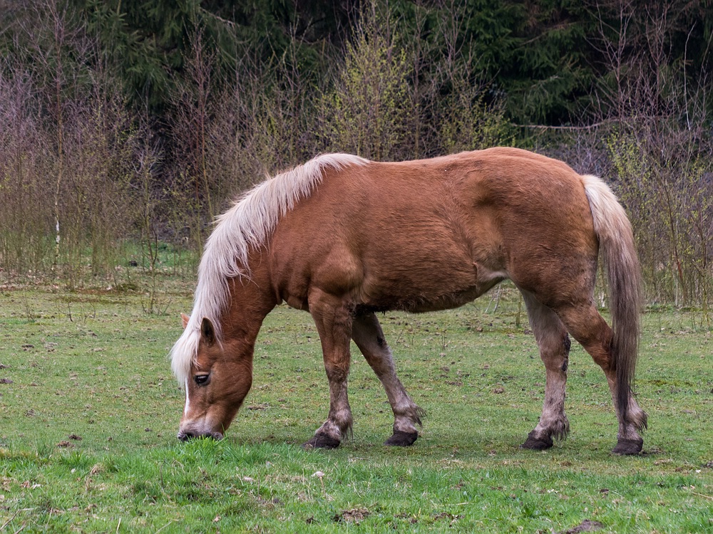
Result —
<instances>
[{"instance_id":1,"label":"horse's hind leg set further forward, clear of the tail","mask_svg":"<svg viewBox=\"0 0 713 534\"><path fill-rule=\"evenodd\" d=\"M553 310L540 303L527 291L522 293L528 309L530 327L540 348L540 358L545 364L546 384L540 421L520 447L541 451L553 446L553 437L564 439L570 430L565 415L570 339L565 326Z\"/></svg>"}]
</instances>

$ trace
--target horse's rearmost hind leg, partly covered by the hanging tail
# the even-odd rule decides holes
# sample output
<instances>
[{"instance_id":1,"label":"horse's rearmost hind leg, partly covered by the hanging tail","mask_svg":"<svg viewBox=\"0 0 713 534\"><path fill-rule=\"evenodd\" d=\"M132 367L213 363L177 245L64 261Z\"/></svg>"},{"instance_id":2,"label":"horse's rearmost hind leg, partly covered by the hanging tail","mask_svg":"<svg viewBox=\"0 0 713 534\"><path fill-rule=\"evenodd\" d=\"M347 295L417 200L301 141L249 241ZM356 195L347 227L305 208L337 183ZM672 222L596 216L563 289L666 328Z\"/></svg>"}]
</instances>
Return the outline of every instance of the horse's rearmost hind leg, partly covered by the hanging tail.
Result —
<instances>
[{"instance_id":1,"label":"horse's rearmost hind leg, partly covered by the hanging tail","mask_svg":"<svg viewBox=\"0 0 713 534\"><path fill-rule=\"evenodd\" d=\"M611 328L592 303L579 306L570 305L558 310L558 315L567 325L570 334L589 352L607 377L619 422L617 446L612 452L614 454L640 453L644 440L639 435L639 431L646 428L647 415L639 407L631 392L629 392L625 410L626 417L623 416L624 411L617 404L617 375L615 362L612 361Z\"/></svg>"}]
</instances>

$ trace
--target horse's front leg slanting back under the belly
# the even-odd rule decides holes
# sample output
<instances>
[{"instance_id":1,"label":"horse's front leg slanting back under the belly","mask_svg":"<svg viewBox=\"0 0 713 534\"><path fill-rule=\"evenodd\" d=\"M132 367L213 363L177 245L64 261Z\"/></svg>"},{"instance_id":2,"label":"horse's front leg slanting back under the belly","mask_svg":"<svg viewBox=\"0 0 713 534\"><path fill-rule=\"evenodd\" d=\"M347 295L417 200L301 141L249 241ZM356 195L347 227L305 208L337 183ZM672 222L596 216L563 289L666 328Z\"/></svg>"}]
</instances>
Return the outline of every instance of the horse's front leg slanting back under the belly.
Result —
<instances>
[{"instance_id":1,"label":"horse's front leg slanting back under the belly","mask_svg":"<svg viewBox=\"0 0 713 534\"><path fill-rule=\"evenodd\" d=\"M414 444L419 437L416 425L421 426L421 416L424 412L411 400L399 377L396 376L394 358L374 313L354 317L352 339L379 377L386 390L391 410L394 412L394 434L384 444L395 446Z\"/></svg>"}]
</instances>

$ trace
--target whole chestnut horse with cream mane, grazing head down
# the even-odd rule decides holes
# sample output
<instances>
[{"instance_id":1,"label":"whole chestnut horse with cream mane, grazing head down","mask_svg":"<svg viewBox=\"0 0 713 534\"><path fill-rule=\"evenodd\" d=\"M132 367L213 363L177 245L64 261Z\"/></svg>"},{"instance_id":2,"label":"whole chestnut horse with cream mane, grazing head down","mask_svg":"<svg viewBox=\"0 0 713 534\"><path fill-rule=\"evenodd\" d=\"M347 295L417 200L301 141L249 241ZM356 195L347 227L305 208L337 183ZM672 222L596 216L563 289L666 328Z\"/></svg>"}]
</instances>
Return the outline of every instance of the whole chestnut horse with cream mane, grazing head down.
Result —
<instances>
[{"instance_id":1,"label":"whole chestnut horse with cream mane, grazing head down","mask_svg":"<svg viewBox=\"0 0 713 534\"><path fill-rule=\"evenodd\" d=\"M612 327L593 301L602 252ZM509 278L522 292L545 364L543 412L522 445L568 433L570 333L604 371L619 431L636 454L646 414L632 396L640 269L610 189L555 159L513 148L410 162L322 155L252 189L217 220L198 269L193 314L172 350L185 387L180 439L222 438L252 383L255 338L275 305L309 311L322 342L329 415L305 446L352 428L352 339L386 389L389 445L411 445L421 409L396 377L376 312L455 308Z\"/></svg>"}]
</instances>

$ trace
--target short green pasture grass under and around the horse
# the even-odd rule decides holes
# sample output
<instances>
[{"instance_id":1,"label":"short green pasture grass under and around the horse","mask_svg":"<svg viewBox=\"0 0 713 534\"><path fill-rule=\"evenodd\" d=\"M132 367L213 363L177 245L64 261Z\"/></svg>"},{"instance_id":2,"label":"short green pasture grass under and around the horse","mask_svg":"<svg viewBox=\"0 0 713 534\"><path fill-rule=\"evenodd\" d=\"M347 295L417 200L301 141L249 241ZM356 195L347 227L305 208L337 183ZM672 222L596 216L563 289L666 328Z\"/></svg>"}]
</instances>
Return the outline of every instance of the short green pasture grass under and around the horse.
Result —
<instances>
[{"instance_id":1,"label":"short green pasture grass under and around the horse","mask_svg":"<svg viewBox=\"0 0 713 534\"><path fill-rule=\"evenodd\" d=\"M138 287L140 284L138 285ZM446 313L381 318L402 382L426 409L409 449L381 443L386 396L354 349L354 436L304 451L328 388L309 315L277 308L223 441L178 443L183 395L167 353L193 284L161 279L168 315L130 290L0 290L0 532L713 532L712 332L691 311L644 317L644 453L612 456L602 372L570 355L570 436L519 444L544 370L512 293Z\"/></svg>"}]
</instances>

